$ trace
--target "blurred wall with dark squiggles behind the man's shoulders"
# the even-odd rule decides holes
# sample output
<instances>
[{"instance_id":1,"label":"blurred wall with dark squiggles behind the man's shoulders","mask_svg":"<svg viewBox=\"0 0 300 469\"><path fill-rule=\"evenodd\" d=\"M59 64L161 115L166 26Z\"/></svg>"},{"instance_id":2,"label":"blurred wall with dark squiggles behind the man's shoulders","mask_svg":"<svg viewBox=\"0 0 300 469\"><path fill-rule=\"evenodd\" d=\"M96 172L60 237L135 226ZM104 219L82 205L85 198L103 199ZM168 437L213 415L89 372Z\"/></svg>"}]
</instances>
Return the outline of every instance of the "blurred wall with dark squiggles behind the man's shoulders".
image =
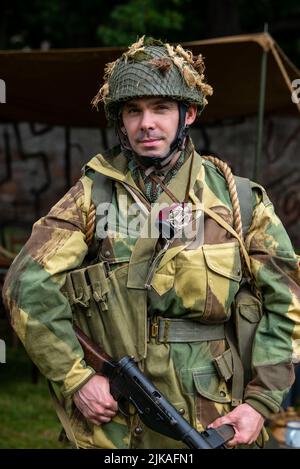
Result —
<instances>
[{"instance_id":1,"label":"blurred wall with dark squiggles behind the man's shoulders","mask_svg":"<svg viewBox=\"0 0 300 469\"><path fill-rule=\"evenodd\" d=\"M191 134L200 152L215 154L236 174L253 177L255 118L200 126ZM30 230L76 181L82 166L115 143L112 130L0 124L0 230ZM266 118L258 182L300 249L300 119Z\"/></svg>"}]
</instances>

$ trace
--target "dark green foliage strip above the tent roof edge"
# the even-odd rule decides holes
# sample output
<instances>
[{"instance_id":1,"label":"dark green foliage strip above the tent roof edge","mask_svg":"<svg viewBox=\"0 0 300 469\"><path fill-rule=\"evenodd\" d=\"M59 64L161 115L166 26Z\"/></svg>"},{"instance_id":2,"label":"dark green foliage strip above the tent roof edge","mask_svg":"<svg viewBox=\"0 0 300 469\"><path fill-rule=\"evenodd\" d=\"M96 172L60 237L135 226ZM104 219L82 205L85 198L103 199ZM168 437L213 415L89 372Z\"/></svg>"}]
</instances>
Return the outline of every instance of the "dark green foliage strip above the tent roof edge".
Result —
<instances>
[{"instance_id":1,"label":"dark green foliage strip above the tent roof edge","mask_svg":"<svg viewBox=\"0 0 300 469\"><path fill-rule=\"evenodd\" d=\"M127 46L269 31L300 62L299 0L2 0L0 49Z\"/></svg>"}]
</instances>

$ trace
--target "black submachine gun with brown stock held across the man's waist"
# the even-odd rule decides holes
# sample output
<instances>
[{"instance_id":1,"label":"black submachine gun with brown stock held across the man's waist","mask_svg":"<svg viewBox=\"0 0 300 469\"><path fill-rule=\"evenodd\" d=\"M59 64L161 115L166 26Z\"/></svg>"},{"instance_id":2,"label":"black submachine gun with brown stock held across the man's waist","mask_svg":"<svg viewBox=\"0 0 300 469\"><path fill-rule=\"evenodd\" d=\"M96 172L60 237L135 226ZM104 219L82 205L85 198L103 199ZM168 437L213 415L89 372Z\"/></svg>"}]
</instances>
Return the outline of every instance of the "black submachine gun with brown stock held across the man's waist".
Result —
<instances>
[{"instance_id":1,"label":"black submachine gun with brown stock held across the man's waist","mask_svg":"<svg viewBox=\"0 0 300 469\"><path fill-rule=\"evenodd\" d=\"M146 378L132 358L124 356L114 361L81 329L76 325L73 327L84 351L86 363L96 373L109 379L113 398L119 404L122 402L132 404L142 422L151 430L174 440L181 440L192 449L225 448L225 443L233 438L234 430L231 425L198 432Z\"/></svg>"}]
</instances>

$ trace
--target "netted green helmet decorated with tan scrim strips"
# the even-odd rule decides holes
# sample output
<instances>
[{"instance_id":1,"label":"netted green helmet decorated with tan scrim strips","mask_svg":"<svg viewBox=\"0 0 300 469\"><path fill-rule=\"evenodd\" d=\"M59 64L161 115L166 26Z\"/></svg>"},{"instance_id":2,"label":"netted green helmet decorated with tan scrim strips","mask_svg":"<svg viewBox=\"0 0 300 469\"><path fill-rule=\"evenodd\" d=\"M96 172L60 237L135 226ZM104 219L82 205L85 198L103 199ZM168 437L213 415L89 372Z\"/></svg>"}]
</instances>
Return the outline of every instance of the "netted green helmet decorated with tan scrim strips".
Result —
<instances>
[{"instance_id":1,"label":"netted green helmet decorated with tan scrim strips","mask_svg":"<svg viewBox=\"0 0 300 469\"><path fill-rule=\"evenodd\" d=\"M145 36L105 68L104 85L92 104L103 101L109 122L116 122L120 104L136 98L160 96L196 104L198 114L213 93L204 82L204 62L182 46L171 46Z\"/></svg>"}]
</instances>

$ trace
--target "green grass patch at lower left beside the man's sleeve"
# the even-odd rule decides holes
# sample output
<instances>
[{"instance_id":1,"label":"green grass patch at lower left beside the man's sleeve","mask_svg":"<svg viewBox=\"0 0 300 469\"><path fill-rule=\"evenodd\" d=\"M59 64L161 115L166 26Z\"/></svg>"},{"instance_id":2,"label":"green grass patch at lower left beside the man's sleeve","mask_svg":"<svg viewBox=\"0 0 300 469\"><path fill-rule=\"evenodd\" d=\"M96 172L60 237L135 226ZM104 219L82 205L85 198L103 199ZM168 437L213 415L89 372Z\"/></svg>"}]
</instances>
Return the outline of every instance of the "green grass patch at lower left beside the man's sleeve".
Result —
<instances>
[{"instance_id":1,"label":"green grass patch at lower left beside the man's sleeve","mask_svg":"<svg viewBox=\"0 0 300 469\"><path fill-rule=\"evenodd\" d=\"M61 425L47 382L32 382L33 365L23 347L8 347L0 364L0 448L62 448Z\"/></svg>"}]
</instances>

